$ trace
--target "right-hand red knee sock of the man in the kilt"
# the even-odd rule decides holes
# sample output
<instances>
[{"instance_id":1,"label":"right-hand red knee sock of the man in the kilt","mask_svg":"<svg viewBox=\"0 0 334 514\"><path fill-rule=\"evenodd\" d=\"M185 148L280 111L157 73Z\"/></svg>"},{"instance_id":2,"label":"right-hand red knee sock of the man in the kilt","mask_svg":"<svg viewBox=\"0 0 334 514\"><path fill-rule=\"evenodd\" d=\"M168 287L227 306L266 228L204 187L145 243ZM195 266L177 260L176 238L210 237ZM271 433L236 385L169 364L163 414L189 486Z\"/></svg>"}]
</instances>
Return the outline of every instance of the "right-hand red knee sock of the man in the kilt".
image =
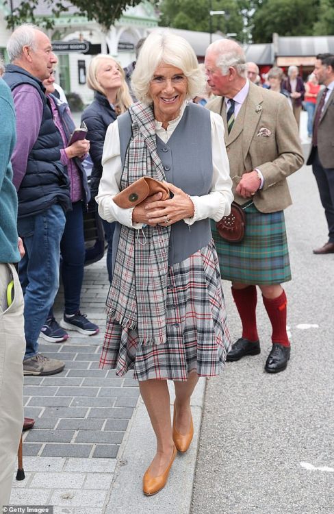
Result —
<instances>
[{"instance_id":1,"label":"right-hand red knee sock of the man in the kilt","mask_svg":"<svg viewBox=\"0 0 334 514\"><path fill-rule=\"evenodd\" d=\"M272 324L272 343L290 346L287 337L287 297L285 291L283 290L277 298L266 298L264 296L262 298Z\"/></svg>"}]
</instances>

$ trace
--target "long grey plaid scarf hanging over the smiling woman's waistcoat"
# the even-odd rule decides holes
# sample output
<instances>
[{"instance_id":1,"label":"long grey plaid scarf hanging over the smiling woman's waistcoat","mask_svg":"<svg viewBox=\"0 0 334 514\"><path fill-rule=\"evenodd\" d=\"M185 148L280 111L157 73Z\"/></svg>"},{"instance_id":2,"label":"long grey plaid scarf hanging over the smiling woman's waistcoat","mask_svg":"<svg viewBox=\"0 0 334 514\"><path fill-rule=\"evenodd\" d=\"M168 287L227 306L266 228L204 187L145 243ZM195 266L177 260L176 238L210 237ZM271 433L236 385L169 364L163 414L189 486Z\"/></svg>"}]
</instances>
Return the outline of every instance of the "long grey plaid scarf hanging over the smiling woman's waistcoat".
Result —
<instances>
[{"instance_id":1,"label":"long grey plaid scarf hanging over the smiling woman's waistcoat","mask_svg":"<svg viewBox=\"0 0 334 514\"><path fill-rule=\"evenodd\" d=\"M153 109L140 102L129 108L132 138L125 156L120 187L142 176L166 180L157 155ZM166 296L170 227L146 225L138 230L122 225L112 284L107 297L107 317L138 332L139 345L166 342ZM146 238L146 240L145 240ZM146 241L144 244L143 239Z\"/></svg>"}]
</instances>

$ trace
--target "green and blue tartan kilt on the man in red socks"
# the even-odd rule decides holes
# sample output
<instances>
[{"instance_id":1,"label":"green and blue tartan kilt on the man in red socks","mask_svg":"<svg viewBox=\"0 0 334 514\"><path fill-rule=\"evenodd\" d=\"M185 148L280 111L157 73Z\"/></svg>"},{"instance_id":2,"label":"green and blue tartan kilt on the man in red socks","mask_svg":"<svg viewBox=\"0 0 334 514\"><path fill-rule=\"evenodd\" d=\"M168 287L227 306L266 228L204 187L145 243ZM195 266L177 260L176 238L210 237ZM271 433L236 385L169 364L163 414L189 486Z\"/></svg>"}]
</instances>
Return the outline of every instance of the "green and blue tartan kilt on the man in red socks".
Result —
<instances>
[{"instance_id":1,"label":"green and blue tartan kilt on the man in red socks","mask_svg":"<svg viewBox=\"0 0 334 514\"><path fill-rule=\"evenodd\" d=\"M288 282L291 270L283 210L264 214L251 205L244 212L246 230L240 243L224 241L211 220L222 278L243 284Z\"/></svg>"}]
</instances>

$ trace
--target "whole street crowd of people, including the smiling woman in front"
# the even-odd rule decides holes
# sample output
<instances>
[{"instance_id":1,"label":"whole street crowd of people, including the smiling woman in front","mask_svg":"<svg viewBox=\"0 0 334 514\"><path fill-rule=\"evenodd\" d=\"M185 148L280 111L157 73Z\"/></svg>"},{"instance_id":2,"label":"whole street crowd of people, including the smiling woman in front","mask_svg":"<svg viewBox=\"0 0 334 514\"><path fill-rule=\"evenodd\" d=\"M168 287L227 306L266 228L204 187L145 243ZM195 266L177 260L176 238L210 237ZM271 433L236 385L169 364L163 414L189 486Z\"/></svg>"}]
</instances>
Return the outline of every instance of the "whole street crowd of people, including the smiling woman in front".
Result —
<instances>
[{"instance_id":1,"label":"whole street crowd of people, including the smiling woman in front","mask_svg":"<svg viewBox=\"0 0 334 514\"><path fill-rule=\"evenodd\" d=\"M305 87L294 66L285 79L275 66L264 88L256 84L257 65L246 63L236 42L212 43L198 65L186 40L157 30L138 45L131 70L111 56L92 59L94 100L82 114L87 134L73 143L75 123L55 92L49 38L22 25L10 36L8 55L0 78L0 507L10 499L23 426L23 374L64 369L40 354L38 337L59 343L68 330L99 332L80 311L86 209L98 209L107 241L110 291L100 366L117 376L132 370L139 382L157 440L142 485L153 495L192 441L190 397L198 378L217 376L226 360L261 352L258 291L272 326L265 370L287 367L282 284L291 270L284 210L292 203L287 177L303 165L304 95L314 114L308 164L329 224L328 243L313 252L334 252L334 56L317 56ZM236 208L245 226L237 242L233 221L229 235L220 231ZM64 315L57 323L60 273ZM221 278L231 282L242 323L233 344ZM172 419L167 380L175 385Z\"/></svg>"}]
</instances>

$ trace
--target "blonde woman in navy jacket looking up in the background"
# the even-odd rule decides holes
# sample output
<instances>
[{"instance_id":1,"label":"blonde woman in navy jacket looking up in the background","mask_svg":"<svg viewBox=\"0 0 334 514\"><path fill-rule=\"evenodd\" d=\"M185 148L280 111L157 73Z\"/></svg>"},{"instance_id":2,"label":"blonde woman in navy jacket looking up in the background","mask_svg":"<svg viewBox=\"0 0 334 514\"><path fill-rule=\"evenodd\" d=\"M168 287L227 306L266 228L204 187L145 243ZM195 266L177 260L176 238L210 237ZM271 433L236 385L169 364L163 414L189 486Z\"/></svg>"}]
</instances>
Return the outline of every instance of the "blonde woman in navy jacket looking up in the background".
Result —
<instances>
[{"instance_id":1,"label":"blonde woman in navy jacket looking up in the background","mask_svg":"<svg viewBox=\"0 0 334 514\"><path fill-rule=\"evenodd\" d=\"M94 197L97 195L102 175L102 152L105 133L110 123L118 114L122 114L131 105L132 99L125 82L122 66L111 56L99 54L92 58L88 69L87 84L94 91L94 100L81 117L88 128L87 139L90 140L90 157L93 168L90 176L91 205L96 208ZM107 240L107 270L112 281L112 237L114 223L103 220L105 238Z\"/></svg>"}]
</instances>

